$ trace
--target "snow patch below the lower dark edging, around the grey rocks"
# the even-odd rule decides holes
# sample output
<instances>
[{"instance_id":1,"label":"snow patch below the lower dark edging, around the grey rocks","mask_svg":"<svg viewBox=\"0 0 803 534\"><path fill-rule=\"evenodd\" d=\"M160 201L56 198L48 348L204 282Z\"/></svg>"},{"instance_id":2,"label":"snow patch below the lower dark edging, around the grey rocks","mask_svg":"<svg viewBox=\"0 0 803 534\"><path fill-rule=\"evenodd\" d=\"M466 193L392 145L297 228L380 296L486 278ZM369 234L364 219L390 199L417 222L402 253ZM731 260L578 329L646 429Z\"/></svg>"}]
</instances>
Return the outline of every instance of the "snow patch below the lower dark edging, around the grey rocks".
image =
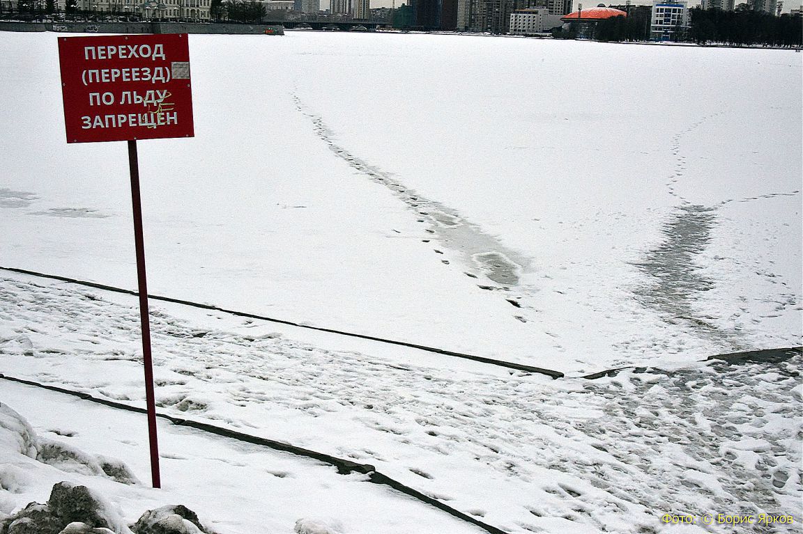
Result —
<instances>
[{"instance_id":1,"label":"snow patch below the lower dark edging, around the grey rocks","mask_svg":"<svg viewBox=\"0 0 803 534\"><path fill-rule=\"evenodd\" d=\"M36 431L9 407L28 415ZM135 524L146 509L169 504L197 511L209 532L219 534L406 534L415 532L419 522L440 532L482 532L401 494L363 483L365 475L337 475L314 461L169 425L159 429L164 482L162 489L153 489L128 474L128 466L141 479L150 472L142 420L140 415L4 382L0 520L32 501L44 503L51 486L67 481L100 496L116 534L130 534L127 525ZM98 451L104 452L100 458L95 456ZM115 469L106 468L108 464ZM294 531L296 525L316 524L319 530Z\"/></svg>"}]
</instances>

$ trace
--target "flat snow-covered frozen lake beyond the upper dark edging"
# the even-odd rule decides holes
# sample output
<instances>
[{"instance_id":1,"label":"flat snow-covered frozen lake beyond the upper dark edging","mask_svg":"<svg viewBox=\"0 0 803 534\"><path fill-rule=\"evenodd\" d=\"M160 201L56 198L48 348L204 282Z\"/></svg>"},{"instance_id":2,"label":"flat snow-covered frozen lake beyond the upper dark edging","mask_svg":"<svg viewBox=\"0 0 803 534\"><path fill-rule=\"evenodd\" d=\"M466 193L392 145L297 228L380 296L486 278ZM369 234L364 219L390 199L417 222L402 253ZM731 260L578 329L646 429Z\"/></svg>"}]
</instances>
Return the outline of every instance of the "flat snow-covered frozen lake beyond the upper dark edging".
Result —
<instances>
[{"instance_id":1,"label":"flat snow-covered frozen lake beyond the upper dark edging","mask_svg":"<svg viewBox=\"0 0 803 534\"><path fill-rule=\"evenodd\" d=\"M124 144L64 143L54 35L0 47L0 265L135 288ZM800 55L316 32L190 55L196 137L140 144L153 293L570 374L801 345Z\"/></svg>"}]
</instances>

